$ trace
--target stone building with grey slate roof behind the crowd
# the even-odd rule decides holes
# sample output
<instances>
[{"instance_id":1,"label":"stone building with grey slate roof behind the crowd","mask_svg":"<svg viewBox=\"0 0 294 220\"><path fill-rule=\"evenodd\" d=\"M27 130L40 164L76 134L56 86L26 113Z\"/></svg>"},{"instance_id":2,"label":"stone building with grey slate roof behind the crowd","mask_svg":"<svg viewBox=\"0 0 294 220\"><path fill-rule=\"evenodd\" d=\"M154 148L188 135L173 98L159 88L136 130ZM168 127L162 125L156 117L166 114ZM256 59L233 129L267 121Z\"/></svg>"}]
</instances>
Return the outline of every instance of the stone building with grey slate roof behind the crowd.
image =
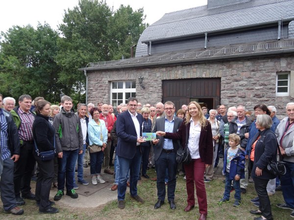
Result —
<instances>
[{"instance_id":1,"label":"stone building with grey slate roof behind the crowd","mask_svg":"<svg viewBox=\"0 0 294 220\"><path fill-rule=\"evenodd\" d=\"M135 58L81 70L95 104L135 95L177 109L192 100L209 109L274 105L282 116L294 101L294 0L208 0L167 13L142 33Z\"/></svg>"}]
</instances>

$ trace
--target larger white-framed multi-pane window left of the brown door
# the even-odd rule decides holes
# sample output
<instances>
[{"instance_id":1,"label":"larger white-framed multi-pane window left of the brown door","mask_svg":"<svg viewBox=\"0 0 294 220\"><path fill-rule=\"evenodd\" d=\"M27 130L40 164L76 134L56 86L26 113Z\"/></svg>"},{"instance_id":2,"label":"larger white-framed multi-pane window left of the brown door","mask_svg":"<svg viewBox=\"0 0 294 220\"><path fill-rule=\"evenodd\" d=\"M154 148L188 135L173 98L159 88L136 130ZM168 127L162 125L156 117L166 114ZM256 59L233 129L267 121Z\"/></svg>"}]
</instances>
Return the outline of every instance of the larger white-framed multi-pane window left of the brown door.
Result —
<instances>
[{"instance_id":1,"label":"larger white-framed multi-pane window left of the brown door","mask_svg":"<svg viewBox=\"0 0 294 220\"><path fill-rule=\"evenodd\" d=\"M111 82L111 104L116 108L121 103L127 103L129 97L136 97L136 81Z\"/></svg>"}]
</instances>

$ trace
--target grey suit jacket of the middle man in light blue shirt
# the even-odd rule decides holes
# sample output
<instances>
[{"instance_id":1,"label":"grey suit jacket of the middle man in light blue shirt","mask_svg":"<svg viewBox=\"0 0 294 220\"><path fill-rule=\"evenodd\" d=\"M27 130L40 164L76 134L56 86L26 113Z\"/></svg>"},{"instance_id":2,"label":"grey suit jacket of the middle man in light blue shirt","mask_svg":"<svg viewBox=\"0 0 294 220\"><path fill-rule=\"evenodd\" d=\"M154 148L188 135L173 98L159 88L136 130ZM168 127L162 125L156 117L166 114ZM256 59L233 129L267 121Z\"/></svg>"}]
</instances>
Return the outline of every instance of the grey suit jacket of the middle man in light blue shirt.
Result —
<instances>
[{"instance_id":1,"label":"grey suit jacket of the middle man in light blue shirt","mask_svg":"<svg viewBox=\"0 0 294 220\"><path fill-rule=\"evenodd\" d=\"M152 132L157 132L157 131L164 132L165 118L166 117L160 117L160 118L156 119L156 123L155 123L155 126L154 126ZM181 126L182 122L183 122L183 119L178 118L178 117L174 117L174 124L173 124L172 132L177 132L179 127ZM164 144L164 137L163 136L159 136L157 138L159 138L159 142L158 142L158 144L156 144L154 146L154 160L157 160L158 157L160 156L162 148L163 148L163 144ZM179 147L181 146L181 143L180 143L179 139L173 140L172 145L173 145L173 150L177 151L177 149L179 149Z\"/></svg>"}]
</instances>

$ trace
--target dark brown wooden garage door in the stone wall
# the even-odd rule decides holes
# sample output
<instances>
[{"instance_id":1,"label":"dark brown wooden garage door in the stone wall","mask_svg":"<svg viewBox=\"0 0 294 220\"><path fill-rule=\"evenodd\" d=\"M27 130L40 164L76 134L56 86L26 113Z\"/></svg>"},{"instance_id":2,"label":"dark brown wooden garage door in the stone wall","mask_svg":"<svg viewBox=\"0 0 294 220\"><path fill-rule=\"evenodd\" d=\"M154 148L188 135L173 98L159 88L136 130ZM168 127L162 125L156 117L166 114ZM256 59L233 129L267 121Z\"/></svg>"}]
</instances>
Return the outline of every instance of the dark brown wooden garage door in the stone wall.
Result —
<instances>
[{"instance_id":1,"label":"dark brown wooden garage door in the stone wall","mask_svg":"<svg viewBox=\"0 0 294 220\"><path fill-rule=\"evenodd\" d=\"M198 102L201 107L215 109L217 105L220 105L221 79L164 80L162 90L163 103L172 101L176 110L184 104L188 105L191 101Z\"/></svg>"}]
</instances>

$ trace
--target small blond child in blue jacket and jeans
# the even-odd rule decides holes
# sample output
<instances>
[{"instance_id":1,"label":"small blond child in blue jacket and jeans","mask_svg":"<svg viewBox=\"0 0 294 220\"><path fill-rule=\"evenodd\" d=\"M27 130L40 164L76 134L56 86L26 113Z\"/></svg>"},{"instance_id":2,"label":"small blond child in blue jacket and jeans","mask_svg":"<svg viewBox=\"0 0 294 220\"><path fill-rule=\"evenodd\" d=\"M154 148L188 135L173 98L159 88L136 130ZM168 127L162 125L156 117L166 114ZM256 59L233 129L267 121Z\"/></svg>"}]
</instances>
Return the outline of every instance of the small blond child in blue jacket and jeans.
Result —
<instances>
[{"instance_id":1,"label":"small blond child in blue jacket and jeans","mask_svg":"<svg viewBox=\"0 0 294 220\"><path fill-rule=\"evenodd\" d=\"M220 199L219 203L230 199L231 182L233 180L235 189L235 202L233 206L239 207L241 204L240 179L245 178L245 153L237 148L237 145L240 144L239 135L235 133L230 134L228 144L230 147L225 151L222 170L222 174L225 176L225 187L223 198Z\"/></svg>"}]
</instances>

